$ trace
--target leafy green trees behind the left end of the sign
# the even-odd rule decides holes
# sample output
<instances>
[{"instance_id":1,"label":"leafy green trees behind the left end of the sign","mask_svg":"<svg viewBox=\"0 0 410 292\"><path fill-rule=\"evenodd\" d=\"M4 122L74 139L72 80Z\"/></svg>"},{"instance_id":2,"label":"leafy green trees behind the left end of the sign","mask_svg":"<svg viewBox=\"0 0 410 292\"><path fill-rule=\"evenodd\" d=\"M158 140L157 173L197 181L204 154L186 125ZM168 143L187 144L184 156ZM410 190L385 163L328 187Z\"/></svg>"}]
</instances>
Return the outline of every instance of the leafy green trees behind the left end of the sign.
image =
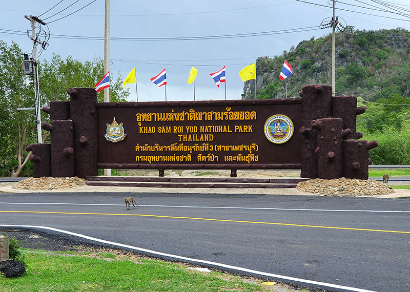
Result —
<instances>
[{"instance_id":1,"label":"leafy green trees behind the left end of the sign","mask_svg":"<svg viewBox=\"0 0 410 292\"><path fill-rule=\"evenodd\" d=\"M31 176L31 169L24 170L30 153L28 144L36 142L35 111L18 111L17 108L34 107L32 78L22 69L23 52L16 43L8 46L0 40L0 176L14 176L20 171ZM67 89L71 87L94 87L104 76L104 62L100 58L81 63L71 56L62 60L53 54L51 61L39 62L39 89L42 106L50 101L68 100ZM122 76L114 81L111 75L111 101L126 101L129 91L122 86ZM98 93L98 101L103 101ZM42 120L49 119L42 115ZM47 135L47 133L44 133ZM45 139L43 139L45 141Z\"/></svg>"}]
</instances>

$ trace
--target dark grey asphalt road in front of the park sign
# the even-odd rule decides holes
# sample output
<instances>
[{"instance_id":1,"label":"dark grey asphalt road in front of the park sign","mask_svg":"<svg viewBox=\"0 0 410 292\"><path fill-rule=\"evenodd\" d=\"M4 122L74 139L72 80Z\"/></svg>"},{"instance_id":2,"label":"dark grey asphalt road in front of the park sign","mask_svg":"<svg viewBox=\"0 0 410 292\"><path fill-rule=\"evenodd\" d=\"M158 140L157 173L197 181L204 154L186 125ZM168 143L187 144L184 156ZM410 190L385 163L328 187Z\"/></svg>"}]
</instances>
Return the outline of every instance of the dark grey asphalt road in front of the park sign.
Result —
<instances>
[{"instance_id":1,"label":"dark grey asphalt road in front of the park sign","mask_svg":"<svg viewBox=\"0 0 410 292\"><path fill-rule=\"evenodd\" d=\"M410 291L409 199L133 194L141 207L126 210L129 195L0 194L0 225L59 228L326 291Z\"/></svg>"}]
</instances>

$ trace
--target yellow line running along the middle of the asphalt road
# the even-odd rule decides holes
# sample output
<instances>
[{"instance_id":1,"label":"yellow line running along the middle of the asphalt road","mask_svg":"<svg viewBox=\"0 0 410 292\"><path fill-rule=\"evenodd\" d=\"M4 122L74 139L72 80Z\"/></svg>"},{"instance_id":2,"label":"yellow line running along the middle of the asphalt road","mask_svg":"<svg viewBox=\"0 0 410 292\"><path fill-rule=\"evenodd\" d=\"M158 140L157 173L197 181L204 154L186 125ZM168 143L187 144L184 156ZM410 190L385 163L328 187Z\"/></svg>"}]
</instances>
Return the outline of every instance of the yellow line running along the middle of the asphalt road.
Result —
<instances>
[{"instance_id":1,"label":"yellow line running along the middle of the asphalt road","mask_svg":"<svg viewBox=\"0 0 410 292\"><path fill-rule=\"evenodd\" d=\"M389 233L405 233L405 234L410 234L409 231L377 230L377 229L350 228L350 227L333 227L333 226L320 226L320 225L303 225L303 224L290 224L290 223L258 222L258 221L211 219L211 218L195 218L195 217L178 217L178 216L162 216L162 215L145 215L145 214L76 213L76 212L43 212L43 211L0 211L0 213L39 213L39 214L66 214L66 215L141 216L141 217L157 217L157 218L208 220L208 221L219 221L219 222L270 224L270 225L285 225L285 226L314 227L314 228L327 228L327 229L340 229L340 230L374 231L374 232L389 232Z\"/></svg>"}]
</instances>

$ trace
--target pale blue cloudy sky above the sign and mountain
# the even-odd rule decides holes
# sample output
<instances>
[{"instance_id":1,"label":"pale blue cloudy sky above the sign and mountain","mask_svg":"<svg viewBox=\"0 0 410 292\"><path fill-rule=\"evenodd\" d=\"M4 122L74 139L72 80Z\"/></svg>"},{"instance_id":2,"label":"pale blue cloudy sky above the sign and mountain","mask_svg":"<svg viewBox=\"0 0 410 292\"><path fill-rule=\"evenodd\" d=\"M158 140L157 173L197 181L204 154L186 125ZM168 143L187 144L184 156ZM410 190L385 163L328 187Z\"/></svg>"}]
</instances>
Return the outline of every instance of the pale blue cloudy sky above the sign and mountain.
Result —
<instances>
[{"instance_id":1,"label":"pale blue cloudy sky above the sign and mountain","mask_svg":"<svg viewBox=\"0 0 410 292\"><path fill-rule=\"evenodd\" d=\"M337 1L335 14L344 26L359 30L410 30L410 2L391 1ZM280 56L302 40L332 32L331 28L319 29L333 15L331 0L121 0L111 1L110 6L110 72L114 79L118 73L125 79L136 68L138 101L165 100L165 88L150 81L163 68L167 72L167 100L193 100L193 84L187 82L192 66L198 69L196 100L224 99L224 84L217 88L209 75L223 66L227 99L241 99L244 82L238 73L243 67L259 56ZM40 61L51 60L53 53L63 59L71 55L81 62L104 59L105 0L3 0L0 39L9 45L14 41L31 53L32 41L26 34L31 26L24 15L39 16L47 23L42 28L50 31L49 46L39 55ZM254 33L262 35L243 37ZM135 84L127 88L129 100L135 101Z\"/></svg>"}]
</instances>

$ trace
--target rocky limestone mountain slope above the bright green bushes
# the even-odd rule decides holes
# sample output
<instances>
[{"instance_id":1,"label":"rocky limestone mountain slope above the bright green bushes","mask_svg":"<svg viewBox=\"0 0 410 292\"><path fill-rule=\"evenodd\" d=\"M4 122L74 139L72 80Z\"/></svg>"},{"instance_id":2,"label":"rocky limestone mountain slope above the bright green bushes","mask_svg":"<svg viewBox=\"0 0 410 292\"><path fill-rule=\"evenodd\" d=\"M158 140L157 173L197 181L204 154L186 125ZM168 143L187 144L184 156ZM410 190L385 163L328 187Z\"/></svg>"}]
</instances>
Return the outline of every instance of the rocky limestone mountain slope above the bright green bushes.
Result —
<instances>
[{"instance_id":1,"label":"rocky limestone mountain slope above the bright green bushes","mask_svg":"<svg viewBox=\"0 0 410 292\"><path fill-rule=\"evenodd\" d=\"M285 98L279 73L286 59L293 75L286 79L288 98L304 85L332 84L332 34L301 41L280 56L256 60L256 98ZM246 81L243 99L255 98L255 80ZM336 95L366 101L410 95L410 31L360 31L347 27L336 34Z\"/></svg>"}]
</instances>

